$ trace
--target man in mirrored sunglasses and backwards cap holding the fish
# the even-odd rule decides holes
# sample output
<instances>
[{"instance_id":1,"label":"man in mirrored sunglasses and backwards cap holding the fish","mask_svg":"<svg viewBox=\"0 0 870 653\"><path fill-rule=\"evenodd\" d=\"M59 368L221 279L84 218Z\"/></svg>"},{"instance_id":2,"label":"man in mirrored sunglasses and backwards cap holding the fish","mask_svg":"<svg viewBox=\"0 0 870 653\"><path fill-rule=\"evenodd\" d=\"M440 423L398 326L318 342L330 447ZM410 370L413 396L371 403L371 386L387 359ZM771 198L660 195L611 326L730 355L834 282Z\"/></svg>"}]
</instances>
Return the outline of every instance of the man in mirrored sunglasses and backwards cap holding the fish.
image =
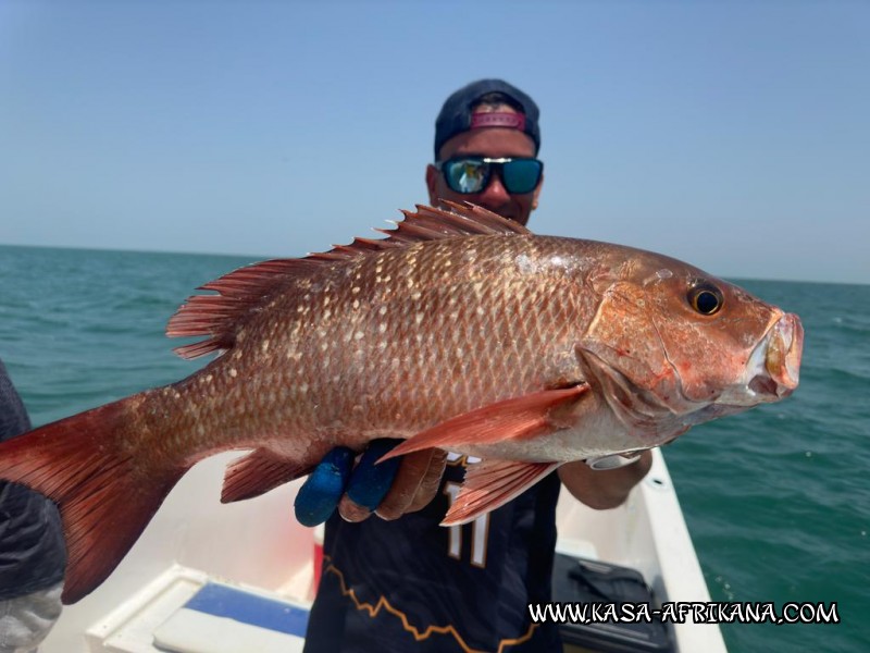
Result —
<instances>
[{"instance_id":1,"label":"man in mirrored sunglasses and backwards cap holding the fish","mask_svg":"<svg viewBox=\"0 0 870 653\"><path fill-rule=\"evenodd\" d=\"M435 163L426 168L430 201L468 200L525 224L543 183L539 145L538 109L524 93L498 79L459 89L436 121ZM560 651L556 625L531 624L526 608L550 599L560 481L594 508L616 507L648 471L649 454L608 471L563 465L501 508L443 528L464 467L474 461L450 456L438 485L444 456L406 456L398 471L382 472L396 473L384 496L372 491L378 483L371 461L389 446L370 447L340 500L340 516L326 523L306 650ZM348 476L350 458L344 451L324 459L297 500L300 520L315 522L324 506L332 510L337 494L324 494L332 503L323 500L319 475ZM333 492L336 486L341 483L333 483ZM373 508L390 519L405 515L366 519Z\"/></svg>"}]
</instances>

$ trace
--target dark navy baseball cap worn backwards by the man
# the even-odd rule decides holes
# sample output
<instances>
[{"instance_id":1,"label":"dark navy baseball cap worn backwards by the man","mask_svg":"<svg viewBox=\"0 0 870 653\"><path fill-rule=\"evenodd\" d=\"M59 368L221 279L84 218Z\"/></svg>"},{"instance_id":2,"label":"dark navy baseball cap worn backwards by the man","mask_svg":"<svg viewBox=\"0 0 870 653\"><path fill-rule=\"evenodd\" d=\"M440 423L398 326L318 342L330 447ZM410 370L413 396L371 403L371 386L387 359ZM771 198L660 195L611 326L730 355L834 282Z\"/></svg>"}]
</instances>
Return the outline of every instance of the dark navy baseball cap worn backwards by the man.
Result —
<instances>
[{"instance_id":1,"label":"dark navy baseball cap worn backwards by the man","mask_svg":"<svg viewBox=\"0 0 870 653\"><path fill-rule=\"evenodd\" d=\"M471 107L489 93L501 93L522 107L522 114L477 113ZM463 86L444 102L435 120L435 159L450 138L477 127L512 127L522 130L535 141L535 151L540 149L538 109L535 101L522 90L502 79L478 79Z\"/></svg>"}]
</instances>

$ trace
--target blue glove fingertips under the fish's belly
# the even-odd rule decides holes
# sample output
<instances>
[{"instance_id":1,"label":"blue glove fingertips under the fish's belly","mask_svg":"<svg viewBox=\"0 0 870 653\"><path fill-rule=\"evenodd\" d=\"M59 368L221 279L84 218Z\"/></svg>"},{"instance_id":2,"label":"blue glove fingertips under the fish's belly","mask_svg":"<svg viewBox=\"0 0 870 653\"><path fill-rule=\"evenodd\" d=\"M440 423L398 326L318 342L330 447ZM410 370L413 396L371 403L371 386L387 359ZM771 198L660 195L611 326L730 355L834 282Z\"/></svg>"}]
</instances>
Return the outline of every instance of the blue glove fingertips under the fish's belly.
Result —
<instances>
[{"instance_id":1,"label":"blue glove fingertips under the fish's belly","mask_svg":"<svg viewBox=\"0 0 870 653\"><path fill-rule=\"evenodd\" d=\"M374 510L393 485L401 458L375 463L401 440L373 440L353 468L353 452L338 446L326 454L308 480L299 489L294 502L296 519L302 526L316 526L326 521L341 496Z\"/></svg>"}]
</instances>

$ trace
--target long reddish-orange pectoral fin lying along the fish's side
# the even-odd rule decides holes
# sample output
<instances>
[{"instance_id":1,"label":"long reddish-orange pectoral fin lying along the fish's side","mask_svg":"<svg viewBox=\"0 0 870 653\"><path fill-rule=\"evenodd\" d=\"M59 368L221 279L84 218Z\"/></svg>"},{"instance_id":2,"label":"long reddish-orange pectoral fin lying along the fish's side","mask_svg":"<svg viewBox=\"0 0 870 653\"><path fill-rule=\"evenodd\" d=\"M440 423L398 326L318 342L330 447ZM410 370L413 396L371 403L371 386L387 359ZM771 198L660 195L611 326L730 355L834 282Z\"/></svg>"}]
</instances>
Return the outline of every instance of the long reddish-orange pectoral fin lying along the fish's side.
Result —
<instances>
[{"instance_id":1,"label":"long reddish-orange pectoral fin lying along the fish's side","mask_svg":"<svg viewBox=\"0 0 870 653\"><path fill-rule=\"evenodd\" d=\"M587 390L587 384L580 383L489 404L409 438L378 461L426 448L494 444L552 432L561 428L559 409L570 407Z\"/></svg>"}]
</instances>

